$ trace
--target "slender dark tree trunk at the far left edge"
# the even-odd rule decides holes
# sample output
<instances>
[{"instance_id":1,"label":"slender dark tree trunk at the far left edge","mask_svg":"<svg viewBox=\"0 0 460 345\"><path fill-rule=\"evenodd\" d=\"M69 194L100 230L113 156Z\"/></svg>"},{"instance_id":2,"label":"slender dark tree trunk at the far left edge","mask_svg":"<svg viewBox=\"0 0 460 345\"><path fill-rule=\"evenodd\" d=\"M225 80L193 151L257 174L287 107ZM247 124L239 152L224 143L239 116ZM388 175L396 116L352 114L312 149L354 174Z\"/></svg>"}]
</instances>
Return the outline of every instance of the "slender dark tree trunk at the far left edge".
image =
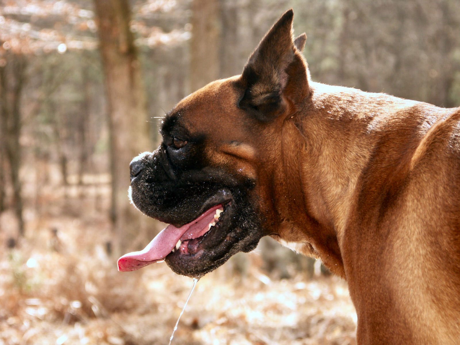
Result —
<instances>
[{"instance_id":1,"label":"slender dark tree trunk at the far left edge","mask_svg":"<svg viewBox=\"0 0 460 345\"><path fill-rule=\"evenodd\" d=\"M26 59L22 54L6 53L6 65L0 67L1 145L9 162L13 187L13 207L18 221L18 234L24 236L23 199L21 196L21 92Z\"/></svg>"}]
</instances>

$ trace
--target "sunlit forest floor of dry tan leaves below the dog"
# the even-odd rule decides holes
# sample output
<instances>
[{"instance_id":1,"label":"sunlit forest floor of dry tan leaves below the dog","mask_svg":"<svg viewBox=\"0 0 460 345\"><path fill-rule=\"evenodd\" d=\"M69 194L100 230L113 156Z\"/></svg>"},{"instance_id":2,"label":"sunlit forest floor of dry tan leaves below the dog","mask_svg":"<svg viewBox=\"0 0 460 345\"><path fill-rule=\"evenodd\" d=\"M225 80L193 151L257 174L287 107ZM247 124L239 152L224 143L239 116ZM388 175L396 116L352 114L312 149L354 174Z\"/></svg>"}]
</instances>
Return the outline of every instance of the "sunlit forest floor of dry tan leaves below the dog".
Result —
<instances>
[{"instance_id":1,"label":"sunlit forest floor of dry tan leaves below the dog","mask_svg":"<svg viewBox=\"0 0 460 345\"><path fill-rule=\"evenodd\" d=\"M168 344L193 281L164 263L118 272L104 213L53 204L31 212L26 238L0 253L0 345ZM0 243L8 236L0 232ZM230 262L200 279L172 344L356 344L345 282L301 272L279 279L258 265L257 249L243 255L243 274Z\"/></svg>"}]
</instances>

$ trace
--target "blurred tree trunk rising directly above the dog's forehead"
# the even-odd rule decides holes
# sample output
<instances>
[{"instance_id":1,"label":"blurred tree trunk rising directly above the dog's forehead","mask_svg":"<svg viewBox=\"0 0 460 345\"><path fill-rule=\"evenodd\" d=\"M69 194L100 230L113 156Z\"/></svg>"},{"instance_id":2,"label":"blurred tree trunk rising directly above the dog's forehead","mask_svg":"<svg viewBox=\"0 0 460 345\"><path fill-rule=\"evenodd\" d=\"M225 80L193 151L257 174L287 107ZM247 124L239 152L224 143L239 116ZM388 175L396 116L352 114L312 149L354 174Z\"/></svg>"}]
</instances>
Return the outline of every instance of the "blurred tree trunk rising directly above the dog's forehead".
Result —
<instances>
[{"instance_id":1,"label":"blurred tree trunk rising directly above the dog's forehead","mask_svg":"<svg viewBox=\"0 0 460 345\"><path fill-rule=\"evenodd\" d=\"M219 0L193 0L192 11L191 92L219 78L221 46Z\"/></svg>"}]
</instances>

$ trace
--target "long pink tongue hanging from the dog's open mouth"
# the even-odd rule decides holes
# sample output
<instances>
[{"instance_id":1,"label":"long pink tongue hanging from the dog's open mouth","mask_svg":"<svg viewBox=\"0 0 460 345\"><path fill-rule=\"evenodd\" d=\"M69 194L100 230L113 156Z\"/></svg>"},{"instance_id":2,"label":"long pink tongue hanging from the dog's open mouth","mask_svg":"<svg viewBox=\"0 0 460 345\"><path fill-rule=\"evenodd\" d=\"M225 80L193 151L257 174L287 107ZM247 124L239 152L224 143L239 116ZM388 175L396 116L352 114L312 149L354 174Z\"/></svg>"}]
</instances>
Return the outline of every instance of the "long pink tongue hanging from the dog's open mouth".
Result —
<instances>
[{"instance_id":1,"label":"long pink tongue hanging from the dog's open mouth","mask_svg":"<svg viewBox=\"0 0 460 345\"><path fill-rule=\"evenodd\" d=\"M214 213L219 207L222 207L222 205L210 208L200 217L180 228L169 224L143 250L127 253L118 259L118 270L121 272L133 271L153 264L171 253L179 240L202 236L209 230L208 224L213 221Z\"/></svg>"}]
</instances>

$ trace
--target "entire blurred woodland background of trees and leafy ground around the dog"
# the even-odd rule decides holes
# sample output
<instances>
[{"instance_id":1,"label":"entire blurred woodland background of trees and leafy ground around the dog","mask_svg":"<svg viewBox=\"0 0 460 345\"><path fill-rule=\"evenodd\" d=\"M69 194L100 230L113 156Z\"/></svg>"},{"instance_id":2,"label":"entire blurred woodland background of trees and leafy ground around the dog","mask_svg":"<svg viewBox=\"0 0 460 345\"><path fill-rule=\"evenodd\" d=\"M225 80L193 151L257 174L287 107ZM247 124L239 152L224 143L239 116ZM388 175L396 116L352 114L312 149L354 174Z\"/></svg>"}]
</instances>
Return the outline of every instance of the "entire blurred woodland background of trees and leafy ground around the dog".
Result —
<instances>
[{"instance_id":1,"label":"entire blurred woodland background of trees and leafy ground around the dog","mask_svg":"<svg viewBox=\"0 0 460 345\"><path fill-rule=\"evenodd\" d=\"M0 0L0 345L167 344L192 282L116 271L161 229L129 161L290 7L314 81L460 105L458 0ZM321 271L263 241L198 282L173 344L355 344Z\"/></svg>"}]
</instances>

